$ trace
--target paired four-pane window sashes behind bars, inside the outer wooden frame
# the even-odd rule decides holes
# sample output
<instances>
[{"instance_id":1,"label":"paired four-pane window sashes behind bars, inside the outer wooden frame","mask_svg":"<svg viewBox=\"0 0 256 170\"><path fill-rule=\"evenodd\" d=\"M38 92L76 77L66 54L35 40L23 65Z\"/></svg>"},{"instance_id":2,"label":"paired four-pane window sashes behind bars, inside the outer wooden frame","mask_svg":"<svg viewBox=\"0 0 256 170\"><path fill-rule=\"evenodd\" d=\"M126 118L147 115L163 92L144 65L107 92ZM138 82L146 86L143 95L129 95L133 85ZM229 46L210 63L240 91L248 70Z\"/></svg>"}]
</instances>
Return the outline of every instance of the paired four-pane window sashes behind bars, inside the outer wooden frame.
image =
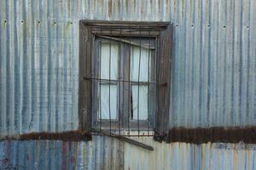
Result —
<instances>
[{"instance_id":1,"label":"paired four-pane window sashes behind bars, inside the outer wooden frame","mask_svg":"<svg viewBox=\"0 0 256 170\"><path fill-rule=\"evenodd\" d=\"M152 130L154 39L96 37L92 60L93 127ZM151 66L153 65L153 66Z\"/></svg>"}]
</instances>

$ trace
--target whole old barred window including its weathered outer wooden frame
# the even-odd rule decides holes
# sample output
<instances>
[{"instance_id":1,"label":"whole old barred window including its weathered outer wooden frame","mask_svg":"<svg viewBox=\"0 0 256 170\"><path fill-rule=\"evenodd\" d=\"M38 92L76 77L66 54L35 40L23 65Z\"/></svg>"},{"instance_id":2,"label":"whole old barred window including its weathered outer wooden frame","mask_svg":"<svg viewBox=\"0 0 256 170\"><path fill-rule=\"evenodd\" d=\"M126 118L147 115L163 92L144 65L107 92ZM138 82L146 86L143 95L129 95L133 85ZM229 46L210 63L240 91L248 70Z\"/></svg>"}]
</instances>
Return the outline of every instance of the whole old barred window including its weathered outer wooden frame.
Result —
<instances>
[{"instance_id":1,"label":"whole old barred window including its weathered outer wooden frame","mask_svg":"<svg viewBox=\"0 0 256 170\"><path fill-rule=\"evenodd\" d=\"M122 135L164 133L171 25L82 20L79 43L80 128Z\"/></svg>"}]
</instances>

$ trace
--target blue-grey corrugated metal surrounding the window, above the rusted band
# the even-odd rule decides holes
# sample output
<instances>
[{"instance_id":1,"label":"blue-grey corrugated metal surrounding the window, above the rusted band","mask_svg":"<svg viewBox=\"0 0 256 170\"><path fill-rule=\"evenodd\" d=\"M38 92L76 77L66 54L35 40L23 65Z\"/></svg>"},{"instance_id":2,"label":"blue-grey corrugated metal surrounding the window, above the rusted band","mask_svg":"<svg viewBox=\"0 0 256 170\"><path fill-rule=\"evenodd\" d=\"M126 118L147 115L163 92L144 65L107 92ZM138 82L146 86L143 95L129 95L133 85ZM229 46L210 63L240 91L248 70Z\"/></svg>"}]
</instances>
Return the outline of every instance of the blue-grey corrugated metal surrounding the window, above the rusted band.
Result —
<instances>
[{"instance_id":1,"label":"blue-grey corrugated metal surrounding the window, above the rusted band","mask_svg":"<svg viewBox=\"0 0 256 170\"><path fill-rule=\"evenodd\" d=\"M0 8L1 134L78 127L82 19L174 24L170 127L255 125L253 0L4 0Z\"/></svg>"}]
</instances>

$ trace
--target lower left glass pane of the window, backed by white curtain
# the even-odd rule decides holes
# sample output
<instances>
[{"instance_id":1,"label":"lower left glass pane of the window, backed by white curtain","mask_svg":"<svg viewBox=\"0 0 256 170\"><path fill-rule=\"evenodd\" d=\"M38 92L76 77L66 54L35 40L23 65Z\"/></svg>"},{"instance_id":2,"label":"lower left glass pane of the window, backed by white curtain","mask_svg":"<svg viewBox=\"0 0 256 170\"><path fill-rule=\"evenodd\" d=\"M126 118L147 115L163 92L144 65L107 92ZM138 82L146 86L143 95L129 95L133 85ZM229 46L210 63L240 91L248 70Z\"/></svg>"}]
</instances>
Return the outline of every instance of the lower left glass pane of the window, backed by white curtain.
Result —
<instances>
[{"instance_id":1,"label":"lower left glass pane of the window, backed by white curtain","mask_svg":"<svg viewBox=\"0 0 256 170\"><path fill-rule=\"evenodd\" d=\"M109 84L100 85L101 96L100 99L100 105L99 105L99 113L98 113L98 119L101 118L102 113L102 119L109 119L109 106L110 106L110 114L111 119L117 118L117 85L110 85L110 94L109 94ZM109 101L109 95L110 95L110 101ZM110 103L110 105L109 105Z\"/></svg>"}]
</instances>

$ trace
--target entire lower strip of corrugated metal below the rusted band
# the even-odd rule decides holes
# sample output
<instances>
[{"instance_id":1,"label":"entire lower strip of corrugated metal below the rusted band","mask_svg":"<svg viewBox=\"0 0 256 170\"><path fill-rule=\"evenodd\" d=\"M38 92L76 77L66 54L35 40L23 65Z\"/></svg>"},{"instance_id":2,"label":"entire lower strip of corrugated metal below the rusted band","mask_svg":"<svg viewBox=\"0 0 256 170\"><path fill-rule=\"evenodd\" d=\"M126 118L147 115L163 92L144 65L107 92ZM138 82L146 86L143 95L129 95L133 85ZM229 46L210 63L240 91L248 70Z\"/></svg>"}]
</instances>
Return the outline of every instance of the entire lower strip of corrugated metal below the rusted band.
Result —
<instances>
[{"instance_id":1,"label":"entire lower strip of corrugated metal below the rusted band","mask_svg":"<svg viewBox=\"0 0 256 170\"><path fill-rule=\"evenodd\" d=\"M135 138L137 139L137 138ZM137 139L154 151L108 137L92 142L0 142L0 169L255 169L248 144L161 144Z\"/></svg>"}]
</instances>

